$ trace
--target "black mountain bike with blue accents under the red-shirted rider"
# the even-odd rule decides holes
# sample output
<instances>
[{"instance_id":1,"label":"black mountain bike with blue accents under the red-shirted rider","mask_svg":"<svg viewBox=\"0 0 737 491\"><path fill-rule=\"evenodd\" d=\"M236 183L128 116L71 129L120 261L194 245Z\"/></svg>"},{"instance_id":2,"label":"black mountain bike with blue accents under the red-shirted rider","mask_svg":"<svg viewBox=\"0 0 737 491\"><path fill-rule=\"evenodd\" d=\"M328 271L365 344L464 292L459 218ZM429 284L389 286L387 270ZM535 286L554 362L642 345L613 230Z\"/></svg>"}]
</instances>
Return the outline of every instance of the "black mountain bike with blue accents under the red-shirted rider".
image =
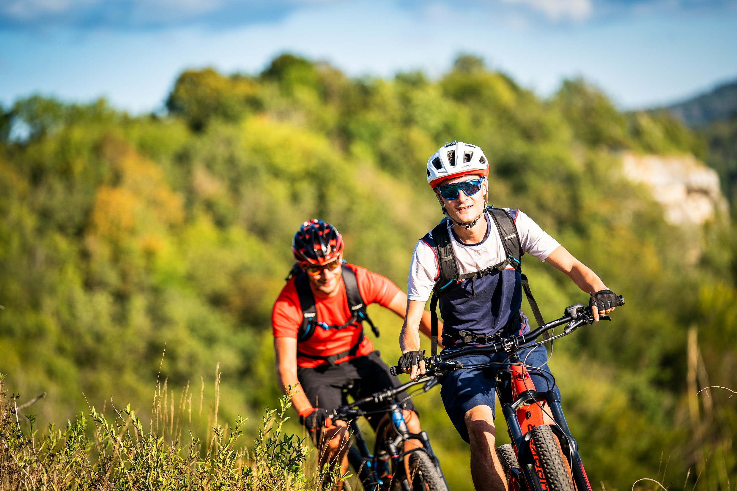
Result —
<instances>
[{"instance_id":1,"label":"black mountain bike with blue accents under the red-shirted rider","mask_svg":"<svg viewBox=\"0 0 737 491\"><path fill-rule=\"evenodd\" d=\"M447 482L440 468L440 462L433 453L427 432L410 433L402 415L402 401L397 395L413 386L422 385L410 397L432 389L438 384L435 377L425 377L420 381L409 381L394 389L386 389L355 400L335 409L330 417L333 421L343 420L349 423L352 434L352 445L348 451L348 460L363 484L366 491L447 491ZM374 453L368 451L366 439L363 438L356 420L371 413L363 411L366 403L386 403L388 409L376 429ZM405 442L417 439L422 447L408 448ZM410 445L408 445L409 447ZM407 457L405 459L405 457Z\"/></svg>"}]
</instances>

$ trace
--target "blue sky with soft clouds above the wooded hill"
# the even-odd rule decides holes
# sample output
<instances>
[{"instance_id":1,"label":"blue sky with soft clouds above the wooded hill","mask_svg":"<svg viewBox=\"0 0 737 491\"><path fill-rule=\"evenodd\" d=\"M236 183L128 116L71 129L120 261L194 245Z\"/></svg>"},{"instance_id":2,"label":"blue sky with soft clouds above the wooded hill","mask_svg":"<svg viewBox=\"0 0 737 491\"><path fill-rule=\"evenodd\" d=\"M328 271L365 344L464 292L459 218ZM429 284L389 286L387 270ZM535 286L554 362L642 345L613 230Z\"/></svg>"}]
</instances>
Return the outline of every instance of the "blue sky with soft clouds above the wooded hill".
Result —
<instances>
[{"instance_id":1,"label":"blue sky with soft clouds above the wooded hill","mask_svg":"<svg viewBox=\"0 0 737 491\"><path fill-rule=\"evenodd\" d=\"M156 110L184 68L287 51L380 77L469 52L542 96L581 75L643 107L737 78L737 0L3 0L0 102Z\"/></svg>"}]
</instances>

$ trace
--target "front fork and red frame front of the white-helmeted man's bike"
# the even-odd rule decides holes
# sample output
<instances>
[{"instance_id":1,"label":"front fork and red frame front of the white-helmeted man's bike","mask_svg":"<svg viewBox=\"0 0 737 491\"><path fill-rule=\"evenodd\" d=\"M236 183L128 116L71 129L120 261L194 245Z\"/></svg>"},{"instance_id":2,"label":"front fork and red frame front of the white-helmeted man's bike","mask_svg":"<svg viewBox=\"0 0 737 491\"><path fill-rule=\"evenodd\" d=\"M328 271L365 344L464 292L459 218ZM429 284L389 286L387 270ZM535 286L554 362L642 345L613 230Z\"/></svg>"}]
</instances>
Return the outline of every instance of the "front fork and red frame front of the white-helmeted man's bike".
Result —
<instances>
[{"instance_id":1,"label":"front fork and red frame front of the white-helmeted man's bike","mask_svg":"<svg viewBox=\"0 0 737 491\"><path fill-rule=\"evenodd\" d=\"M579 456L576 440L570 434L568 425L563 416L560 399L554 390L548 392L537 392L535 385L525 367L520 362L520 357L514 353L509 358L511 371L511 403L502 404L502 412L509 428L514 451L517 453L518 462L522 467L521 475L516 470L511 471L512 484L521 488L523 479L530 483L531 489L547 491L548 483L545 481L545 473L539 464L539 456L534 442L531 441L531 429L538 425L544 425L542 408L538 403L548 403L555 425L551 430L561 445L565 455L573 481L579 491L592 491L589 479L584 470L584 464ZM500 400L502 400L500 398ZM534 484L533 484L534 483Z\"/></svg>"}]
</instances>

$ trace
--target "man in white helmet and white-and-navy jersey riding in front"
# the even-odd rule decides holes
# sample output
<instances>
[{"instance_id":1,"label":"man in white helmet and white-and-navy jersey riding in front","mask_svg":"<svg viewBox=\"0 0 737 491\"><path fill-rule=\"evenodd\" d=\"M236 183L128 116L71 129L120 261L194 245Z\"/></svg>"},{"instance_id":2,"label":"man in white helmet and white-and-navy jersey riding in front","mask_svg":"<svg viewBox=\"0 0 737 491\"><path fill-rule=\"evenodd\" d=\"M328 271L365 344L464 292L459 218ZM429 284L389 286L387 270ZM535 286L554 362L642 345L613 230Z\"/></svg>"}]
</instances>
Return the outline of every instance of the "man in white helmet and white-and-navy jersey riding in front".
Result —
<instances>
[{"instance_id":1,"label":"man in white helmet and white-and-navy jersey riding in front","mask_svg":"<svg viewBox=\"0 0 737 491\"><path fill-rule=\"evenodd\" d=\"M591 269L574 258L525 213L508 208L486 208L488 176L489 163L481 148L475 145L453 141L427 160L427 183L435 191L447 218L417 242L412 256L407 315L399 335L399 345L404 353L399 358L399 366L413 379L425 373L417 329L419 319L425 314L425 303L433 291L439 297L444 321L444 350L484 345L502 336L529 331L527 317L521 310L523 280L519 263L514 264L514 257L506 247L505 241L510 236L500 235L502 219L514 223L521 253L526 252L539 261L548 262L591 295L590 305L596 321L600 314L613 310L609 305L615 304L615 294ZM447 240L449 238L450 241ZM455 283L453 280L445 285L436 283L441 277L441 266L449 267L446 266L449 263L438 261L436 241L441 241L446 247L450 242L450 248L445 250L450 250L450 258L455 261L455 265L451 264L455 268L453 271L458 273L458 276L451 277L456 279ZM447 255L441 257L447 258ZM545 348L527 348L520 350L519 354L528 366L537 390L552 387L557 392L553 378L547 372ZM495 452L495 374L498 365L488 365L489 362L503 363L506 355L470 355L459 359L465 366L487 365L450 372L441 381L441 398L456 430L470 444L471 476L475 489L506 490L506 478ZM509 389L509 383L506 389ZM548 414L544 417L545 424L554 424Z\"/></svg>"}]
</instances>

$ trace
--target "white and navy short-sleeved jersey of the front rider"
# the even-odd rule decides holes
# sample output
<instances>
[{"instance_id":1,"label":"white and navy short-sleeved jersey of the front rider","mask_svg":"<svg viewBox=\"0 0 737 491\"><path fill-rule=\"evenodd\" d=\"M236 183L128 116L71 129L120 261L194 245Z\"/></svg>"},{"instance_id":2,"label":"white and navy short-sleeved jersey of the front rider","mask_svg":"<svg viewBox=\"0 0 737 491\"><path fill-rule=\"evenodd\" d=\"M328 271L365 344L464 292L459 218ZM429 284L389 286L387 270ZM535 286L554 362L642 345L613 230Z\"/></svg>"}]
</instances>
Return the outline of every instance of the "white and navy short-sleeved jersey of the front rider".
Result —
<instances>
[{"instance_id":1,"label":"white and navy short-sleeved jersey of the front rider","mask_svg":"<svg viewBox=\"0 0 737 491\"><path fill-rule=\"evenodd\" d=\"M545 261L559 243L545 233L537 223L519 210L509 210L517 226L523 253ZM455 255L458 274L481 271L506 259L499 230L487 212L486 236L477 244L464 244L450 228L450 243ZM438 278L438 258L435 249L420 239L417 242L408 278L409 300L425 302L433 292ZM502 272L493 272L482 278L462 280L440 296L440 311L445 325L478 336L492 336L509 320L517 316L522 305L520 274L513 266ZM526 319L520 329L528 329ZM516 330L516 329L515 329Z\"/></svg>"}]
</instances>

